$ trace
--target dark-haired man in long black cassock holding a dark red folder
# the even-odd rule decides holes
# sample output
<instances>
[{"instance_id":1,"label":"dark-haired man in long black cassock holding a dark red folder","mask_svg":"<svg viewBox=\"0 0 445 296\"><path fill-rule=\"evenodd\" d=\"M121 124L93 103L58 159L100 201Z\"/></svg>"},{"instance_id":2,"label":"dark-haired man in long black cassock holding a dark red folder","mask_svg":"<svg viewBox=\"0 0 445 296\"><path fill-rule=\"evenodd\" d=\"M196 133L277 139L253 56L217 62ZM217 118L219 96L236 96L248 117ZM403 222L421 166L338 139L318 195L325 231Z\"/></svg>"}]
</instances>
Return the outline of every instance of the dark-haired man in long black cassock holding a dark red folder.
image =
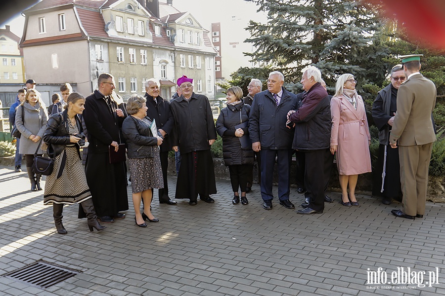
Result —
<instances>
[{"instance_id":1,"label":"dark-haired man in long black cassock holding a dark red folder","mask_svg":"<svg viewBox=\"0 0 445 296\"><path fill-rule=\"evenodd\" d=\"M125 115L111 96L115 89L113 76L100 74L97 84L98 89L85 99L83 112L89 141L85 173L97 217L112 223L125 218L119 212L128 210L124 162L110 163L108 152L109 147L118 151L122 143L120 128ZM80 207L79 218L84 215Z\"/></svg>"}]
</instances>

